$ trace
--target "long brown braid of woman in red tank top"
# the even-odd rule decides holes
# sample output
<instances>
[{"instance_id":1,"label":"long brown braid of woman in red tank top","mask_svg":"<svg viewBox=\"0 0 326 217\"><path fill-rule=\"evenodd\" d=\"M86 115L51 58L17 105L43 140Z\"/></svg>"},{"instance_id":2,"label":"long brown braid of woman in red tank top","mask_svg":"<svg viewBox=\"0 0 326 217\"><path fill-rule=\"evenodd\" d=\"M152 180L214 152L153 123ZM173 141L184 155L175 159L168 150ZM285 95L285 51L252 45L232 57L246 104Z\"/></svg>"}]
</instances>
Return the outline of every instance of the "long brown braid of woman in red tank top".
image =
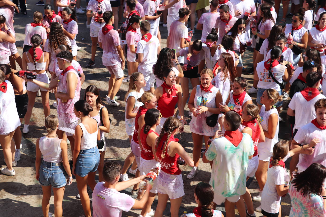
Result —
<instances>
[{"instance_id":1,"label":"long brown braid of woman in red tank top","mask_svg":"<svg viewBox=\"0 0 326 217\"><path fill-rule=\"evenodd\" d=\"M166 151L166 147L169 143L169 140L170 140L170 136L172 135L172 132L179 128L181 125L181 122L180 120L177 118L177 117L174 117L174 116L171 116L171 117L168 117L168 119L166 119L166 121L164 122L163 124L163 128L162 128L162 131L157 139L157 142L156 142L156 145L155 145L155 153L157 152L157 147L159 145L159 143L161 142L161 139L162 137L164 136L165 133L168 134L166 140L164 141L164 147L163 147L163 150L162 150L162 154L161 154L161 158L164 158L166 155L165 155L165 151Z\"/></svg>"}]
</instances>

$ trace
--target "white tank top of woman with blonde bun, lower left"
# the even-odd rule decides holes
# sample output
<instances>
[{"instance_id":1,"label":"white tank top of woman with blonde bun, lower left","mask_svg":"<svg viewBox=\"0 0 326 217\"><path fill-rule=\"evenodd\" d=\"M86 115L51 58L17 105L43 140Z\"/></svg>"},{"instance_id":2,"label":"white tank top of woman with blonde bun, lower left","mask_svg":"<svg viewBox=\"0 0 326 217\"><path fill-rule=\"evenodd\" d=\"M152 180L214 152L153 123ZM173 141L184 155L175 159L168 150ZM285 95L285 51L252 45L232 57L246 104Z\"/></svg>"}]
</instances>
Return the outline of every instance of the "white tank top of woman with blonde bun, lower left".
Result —
<instances>
[{"instance_id":1,"label":"white tank top of woman with blonde bun, lower left","mask_svg":"<svg viewBox=\"0 0 326 217\"><path fill-rule=\"evenodd\" d=\"M50 163L61 163L62 156L61 156L61 143L62 139L58 137L49 138L43 136L40 138L38 142L38 147L43 155L43 160Z\"/></svg>"}]
</instances>

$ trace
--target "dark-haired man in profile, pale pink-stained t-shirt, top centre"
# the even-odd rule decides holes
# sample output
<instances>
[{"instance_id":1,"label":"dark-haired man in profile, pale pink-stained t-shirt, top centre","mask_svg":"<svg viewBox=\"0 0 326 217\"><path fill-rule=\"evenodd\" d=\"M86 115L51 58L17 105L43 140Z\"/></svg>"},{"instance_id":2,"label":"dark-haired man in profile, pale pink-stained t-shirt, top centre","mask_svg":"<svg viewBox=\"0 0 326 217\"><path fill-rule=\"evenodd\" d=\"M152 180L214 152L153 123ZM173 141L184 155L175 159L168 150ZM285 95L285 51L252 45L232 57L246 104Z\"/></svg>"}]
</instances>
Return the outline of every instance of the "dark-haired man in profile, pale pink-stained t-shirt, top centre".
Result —
<instances>
[{"instance_id":1,"label":"dark-haired man in profile, pale pink-stained t-shirt, top centre","mask_svg":"<svg viewBox=\"0 0 326 217\"><path fill-rule=\"evenodd\" d=\"M185 26L185 21L188 20L191 10L183 7L179 10L179 20L171 23L171 31L168 36L169 44L167 47L175 49L175 53L179 52L182 48L188 47L189 42L185 39L188 38L188 29ZM178 57L180 63L184 63L183 57Z\"/></svg>"}]
</instances>

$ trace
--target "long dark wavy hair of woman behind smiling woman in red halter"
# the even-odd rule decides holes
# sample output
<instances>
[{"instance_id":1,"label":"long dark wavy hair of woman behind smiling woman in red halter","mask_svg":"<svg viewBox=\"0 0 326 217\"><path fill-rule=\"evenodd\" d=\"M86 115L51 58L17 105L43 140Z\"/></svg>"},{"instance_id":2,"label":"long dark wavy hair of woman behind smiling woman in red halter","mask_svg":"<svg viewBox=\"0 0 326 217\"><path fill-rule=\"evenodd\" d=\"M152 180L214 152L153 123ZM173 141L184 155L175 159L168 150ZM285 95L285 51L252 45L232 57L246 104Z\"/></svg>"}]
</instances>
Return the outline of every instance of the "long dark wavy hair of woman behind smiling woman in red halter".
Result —
<instances>
[{"instance_id":1,"label":"long dark wavy hair of woman behind smiling woman in red halter","mask_svg":"<svg viewBox=\"0 0 326 217\"><path fill-rule=\"evenodd\" d=\"M172 69L174 67L174 56L172 49L169 47L164 47L158 54L156 64L154 65L153 73L154 75L164 81L163 72L167 69Z\"/></svg>"}]
</instances>

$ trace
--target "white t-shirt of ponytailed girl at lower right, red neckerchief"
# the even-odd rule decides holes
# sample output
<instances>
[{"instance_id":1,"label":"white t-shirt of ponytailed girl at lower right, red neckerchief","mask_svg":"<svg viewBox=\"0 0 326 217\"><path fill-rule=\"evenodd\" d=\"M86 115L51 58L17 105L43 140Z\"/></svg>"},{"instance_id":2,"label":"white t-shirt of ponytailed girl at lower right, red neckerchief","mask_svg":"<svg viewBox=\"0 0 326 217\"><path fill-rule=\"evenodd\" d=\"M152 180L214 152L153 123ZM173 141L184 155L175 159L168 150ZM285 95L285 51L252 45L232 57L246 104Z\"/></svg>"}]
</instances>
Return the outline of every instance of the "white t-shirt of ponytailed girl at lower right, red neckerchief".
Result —
<instances>
[{"instance_id":1,"label":"white t-shirt of ponytailed girl at lower right, red neckerchief","mask_svg":"<svg viewBox=\"0 0 326 217\"><path fill-rule=\"evenodd\" d=\"M286 161L290 154L282 160ZM281 205L281 197L278 196L276 185L284 184L287 171L280 166L273 166L267 170L267 180L261 193L261 209L268 213L278 213Z\"/></svg>"}]
</instances>

